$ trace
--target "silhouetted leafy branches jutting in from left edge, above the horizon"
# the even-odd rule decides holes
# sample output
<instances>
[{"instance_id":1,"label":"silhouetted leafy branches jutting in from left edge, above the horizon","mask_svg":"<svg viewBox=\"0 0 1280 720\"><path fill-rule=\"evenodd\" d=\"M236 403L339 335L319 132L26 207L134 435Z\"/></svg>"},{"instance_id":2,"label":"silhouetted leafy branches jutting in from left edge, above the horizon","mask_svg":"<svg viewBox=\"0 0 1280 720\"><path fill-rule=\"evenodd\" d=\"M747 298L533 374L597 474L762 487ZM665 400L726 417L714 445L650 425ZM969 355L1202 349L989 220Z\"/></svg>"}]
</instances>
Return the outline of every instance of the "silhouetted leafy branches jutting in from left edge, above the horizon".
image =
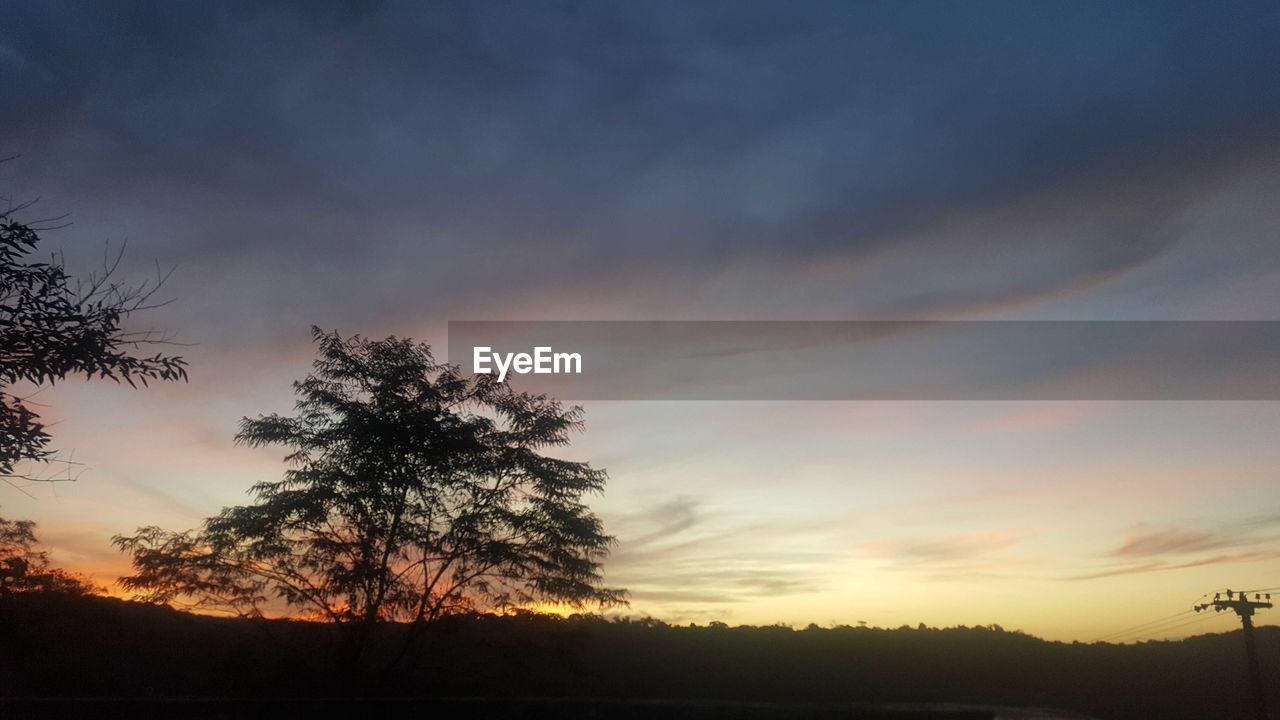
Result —
<instances>
[{"instance_id":1,"label":"silhouetted leafy branches jutting in from left edge, above the horizon","mask_svg":"<svg viewBox=\"0 0 1280 720\"><path fill-rule=\"evenodd\" d=\"M122 328L133 313L155 306L151 297L164 278L140 286L115 282L120 255L84 281L67 273L60 255L31 261L40 232L50 228L19 220L15 215L24 208L0 211L0 478L5 479L14 477L18 462L52 455L38 414L14 386L35 389L72 374L131 386L187 378L182 357L133 355L165 338Z\"/></svg>"}]
</instances>

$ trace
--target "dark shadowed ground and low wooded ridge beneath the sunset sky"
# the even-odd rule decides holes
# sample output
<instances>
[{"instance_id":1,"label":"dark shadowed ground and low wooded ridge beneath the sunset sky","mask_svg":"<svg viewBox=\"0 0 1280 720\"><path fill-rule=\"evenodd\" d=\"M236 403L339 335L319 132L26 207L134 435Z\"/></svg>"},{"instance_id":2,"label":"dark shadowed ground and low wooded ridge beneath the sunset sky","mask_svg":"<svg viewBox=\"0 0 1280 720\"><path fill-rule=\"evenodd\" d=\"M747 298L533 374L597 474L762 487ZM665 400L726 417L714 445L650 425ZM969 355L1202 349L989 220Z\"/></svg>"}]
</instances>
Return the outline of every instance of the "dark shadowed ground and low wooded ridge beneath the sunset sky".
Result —
<instances>
[{"instance_id":1,"label":"dark shadowed ground and low wooded ridge beneath the sunset sky","mask_svg":"<svg viewBox=\"0 0 1280 720\"><path fill-rule=\"evenodd\" d=\"M420 653L376 678L384 700L352 701L329 662L332 630L108 598L4 600L0 716L279 720L323 708L498 720L1252 717L1238 633L1114 646L988 628L463 618L434 626ZM1262 628L1258 639L1268 700L1280 708L1276 630ZM388 647L399 632L387 628Z\"/></svg>"}]
</instances>

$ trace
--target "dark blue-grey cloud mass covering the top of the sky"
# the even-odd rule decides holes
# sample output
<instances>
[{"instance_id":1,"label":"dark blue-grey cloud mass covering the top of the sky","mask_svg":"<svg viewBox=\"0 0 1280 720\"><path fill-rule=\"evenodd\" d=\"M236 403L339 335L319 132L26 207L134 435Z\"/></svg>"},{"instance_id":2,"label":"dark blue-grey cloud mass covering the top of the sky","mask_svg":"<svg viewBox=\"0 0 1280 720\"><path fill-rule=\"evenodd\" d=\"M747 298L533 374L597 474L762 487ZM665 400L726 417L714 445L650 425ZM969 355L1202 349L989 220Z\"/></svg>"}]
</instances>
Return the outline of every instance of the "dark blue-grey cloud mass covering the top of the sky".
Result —
<instances>
[{"instance_id":1,"label":"dark blue-grey cloud mass covering the top of the sky","mask_svg":"<svg viewBox=\"0 0 1280 720\"><path fill-rule=\"evenodd\" d=\"M1015 279L948 263L888 307L1036 296L1165 251L1280 127L1274 4L352 8L10 4L0 137L65 209L155 217L201 291L360 324L922 236Z\"/></svg>"}]
</instances>

